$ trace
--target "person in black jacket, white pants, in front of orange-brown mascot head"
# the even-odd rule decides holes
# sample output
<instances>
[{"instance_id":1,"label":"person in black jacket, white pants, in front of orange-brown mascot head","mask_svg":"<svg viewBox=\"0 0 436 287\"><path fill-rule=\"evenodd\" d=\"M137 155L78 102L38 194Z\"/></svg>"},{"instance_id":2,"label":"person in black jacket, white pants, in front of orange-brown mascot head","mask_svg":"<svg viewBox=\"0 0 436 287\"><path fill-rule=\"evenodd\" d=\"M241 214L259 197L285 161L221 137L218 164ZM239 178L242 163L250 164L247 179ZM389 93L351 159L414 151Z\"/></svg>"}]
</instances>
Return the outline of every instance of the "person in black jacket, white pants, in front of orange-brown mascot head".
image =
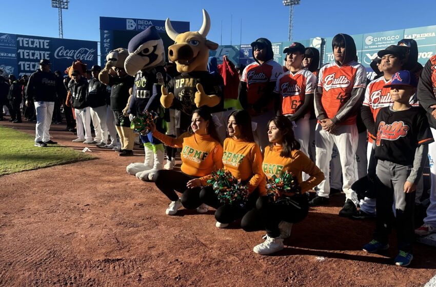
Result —
<instances>
[{"instance_id":1,"label":"person in black jacket, white pants, in front of orange-brown mascot head","mask_svg":"<svg viewBox=\"0 0 436 287\"><path fill-rule=\"evenodd\" d=\"M88 80L77 70L74 70L71 75L73 80L68 84L68 90L71 93L77 126L77 138L72 141L90 144L92 142L92 134L91 113L88 104ZM85 135L83 134L84 129Z\"/></svg>"}]
</instances>

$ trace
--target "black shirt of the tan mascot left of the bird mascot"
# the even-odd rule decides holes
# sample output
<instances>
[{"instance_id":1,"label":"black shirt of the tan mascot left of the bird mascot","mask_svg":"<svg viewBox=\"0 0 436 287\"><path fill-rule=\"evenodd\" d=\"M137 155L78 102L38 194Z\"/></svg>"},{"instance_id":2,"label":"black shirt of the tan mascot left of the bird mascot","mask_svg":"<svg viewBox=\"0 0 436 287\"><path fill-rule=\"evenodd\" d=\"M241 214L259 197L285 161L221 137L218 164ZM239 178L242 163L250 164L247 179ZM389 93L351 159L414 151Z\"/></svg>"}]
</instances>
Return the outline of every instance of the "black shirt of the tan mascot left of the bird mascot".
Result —
<instances>
[{"instance_id":1,"label":"black shirt of the tan mascot left of the bird mascot","mask_svg":"<svg viewBox=\"0 0 436 287\"><path fill-rule=\"evenodd\" d=\"M122 111L126 108L129 99L129 89L133 87L132 76L109 77L110 91L110 109L112 111Z\"/></svg>"}]
</instances>

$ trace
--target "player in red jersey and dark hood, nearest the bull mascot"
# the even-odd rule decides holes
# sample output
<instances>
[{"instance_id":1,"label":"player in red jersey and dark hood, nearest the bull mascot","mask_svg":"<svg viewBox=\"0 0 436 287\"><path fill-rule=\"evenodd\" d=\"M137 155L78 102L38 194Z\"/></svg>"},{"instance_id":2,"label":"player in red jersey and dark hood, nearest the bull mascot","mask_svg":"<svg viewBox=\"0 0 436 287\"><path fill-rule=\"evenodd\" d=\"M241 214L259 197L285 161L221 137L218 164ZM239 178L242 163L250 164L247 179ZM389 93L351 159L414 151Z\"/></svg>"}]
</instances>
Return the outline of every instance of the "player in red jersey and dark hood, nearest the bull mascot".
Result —
<instances>
[{"instance_id":1,"label":"player in red jersey and dark hood, nearest the bull mascot","mask_svg":"<svg viewBox=\"0 0 436 287\"><path fill-rule=\"evenodd\" d=\"M280 98L273 90L277 78L283 74L282 65L274 61L271 42L259 38L251 43L254 62L245 67L239 85L239 100L250 115L256 144L263 150L269 144L267 123L275 115L274 105ZM280 106L280 105L279 105Z\"/></svg>"}]
</instances>

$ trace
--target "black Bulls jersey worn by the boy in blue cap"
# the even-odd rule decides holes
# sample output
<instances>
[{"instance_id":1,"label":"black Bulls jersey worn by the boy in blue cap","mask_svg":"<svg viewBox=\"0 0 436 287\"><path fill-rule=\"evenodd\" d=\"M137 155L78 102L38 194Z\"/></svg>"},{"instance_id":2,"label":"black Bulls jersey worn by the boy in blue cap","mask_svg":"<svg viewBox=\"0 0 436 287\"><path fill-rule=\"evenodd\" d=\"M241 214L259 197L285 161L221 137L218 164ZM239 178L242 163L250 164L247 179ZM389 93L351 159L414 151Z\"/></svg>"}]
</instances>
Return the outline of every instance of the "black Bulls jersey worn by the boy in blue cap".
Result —
<instances>
[{"instance_id":1,"label":"black Bulls jersey worn by the boy in blue cap","mask_svg":"<svg viewBox=\"0 0 436 287\"><path fill-rule=\"evenodd\" d=\"M425 111L411 107L404 111L382 108L376 118L375 157L399 165L412 165L419 145L433 142Z\"/></svg>"}]
</instances>

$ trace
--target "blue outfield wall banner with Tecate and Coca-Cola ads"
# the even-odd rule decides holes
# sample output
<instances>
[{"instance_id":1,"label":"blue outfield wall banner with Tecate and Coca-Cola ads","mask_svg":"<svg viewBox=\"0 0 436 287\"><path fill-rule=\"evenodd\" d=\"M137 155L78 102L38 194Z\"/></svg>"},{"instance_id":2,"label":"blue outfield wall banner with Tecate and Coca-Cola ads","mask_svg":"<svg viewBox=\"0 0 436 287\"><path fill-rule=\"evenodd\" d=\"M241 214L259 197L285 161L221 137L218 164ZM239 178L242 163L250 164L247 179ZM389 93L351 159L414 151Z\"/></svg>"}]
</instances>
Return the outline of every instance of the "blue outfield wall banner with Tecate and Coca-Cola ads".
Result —
<instances>
[{"instance_id":1,"label":"blue outfield wall banner with Tecate and Coca-Cola ads","mask_svg":"<svg viewBox=\"0 0 436 287\"><path fill-rule=\"evenodd\" d=\"M0 33L0 72L31 74L44 58L52 71L63 72L76 59L91 67L97 64L97 42Z\"/></svg>"}]
</instances>

